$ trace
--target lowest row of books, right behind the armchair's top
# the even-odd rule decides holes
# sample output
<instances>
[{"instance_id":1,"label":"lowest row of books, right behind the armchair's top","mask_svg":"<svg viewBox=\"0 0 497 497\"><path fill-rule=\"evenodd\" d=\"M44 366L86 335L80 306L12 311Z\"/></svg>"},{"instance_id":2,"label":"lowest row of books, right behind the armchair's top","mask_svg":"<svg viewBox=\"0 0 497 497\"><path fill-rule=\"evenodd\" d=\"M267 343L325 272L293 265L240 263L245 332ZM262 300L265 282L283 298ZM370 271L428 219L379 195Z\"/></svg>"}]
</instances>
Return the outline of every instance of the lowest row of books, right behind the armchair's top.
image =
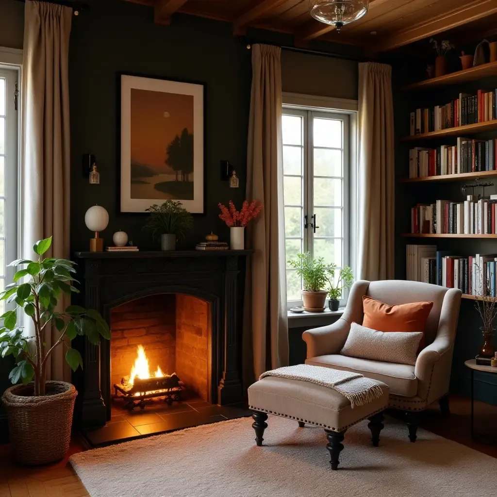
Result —
<instances>
[{"instance_id":1,"label":"lowest row of books, right behind the armchair's top","mask_svg":"<svg viewBox=\"0 0 497 497\"><path fill-rule=\"evenodd\" d=\"M435 245L408 245L407 279L475 296L496 297L497 254L453 255Z\"/></svg>"}]
</instances>

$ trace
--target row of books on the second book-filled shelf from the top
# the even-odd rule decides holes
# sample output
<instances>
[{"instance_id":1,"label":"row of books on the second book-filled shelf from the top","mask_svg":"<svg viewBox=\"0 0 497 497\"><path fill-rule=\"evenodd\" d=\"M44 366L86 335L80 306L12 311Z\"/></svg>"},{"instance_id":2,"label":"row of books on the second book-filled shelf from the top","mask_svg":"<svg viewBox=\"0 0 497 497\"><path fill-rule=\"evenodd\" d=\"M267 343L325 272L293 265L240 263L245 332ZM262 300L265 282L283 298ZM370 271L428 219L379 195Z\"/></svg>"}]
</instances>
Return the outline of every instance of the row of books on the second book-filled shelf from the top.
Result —
<instances>
[{"instance_id":1,"label":"row of books on the second book-filled shelf from the top","mask_svg":"<svg viewBox=\"0 0 497 497\"><path fill-rule=\"evenodd\" d=\"M497 138L458 138L457 145L441 145L435 149L414 147L409 151L410 178L493 171L496 166Z\"/></svg>"}]
</instances>

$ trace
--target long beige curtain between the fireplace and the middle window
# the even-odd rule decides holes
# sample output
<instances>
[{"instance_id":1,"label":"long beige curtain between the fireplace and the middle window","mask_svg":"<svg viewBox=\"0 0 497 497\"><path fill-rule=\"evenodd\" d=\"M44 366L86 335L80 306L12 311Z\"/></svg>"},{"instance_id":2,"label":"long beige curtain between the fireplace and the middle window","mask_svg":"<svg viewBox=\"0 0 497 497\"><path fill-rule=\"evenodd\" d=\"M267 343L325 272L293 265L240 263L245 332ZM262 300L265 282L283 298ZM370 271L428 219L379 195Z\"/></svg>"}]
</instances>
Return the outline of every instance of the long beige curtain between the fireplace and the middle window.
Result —
<instances>
[{"instance_id":1,"label":"long beige curtain between the fireplace and the middle window","mask_svg":"<svg viewBox=\"0 0 497 497\"><path fill-rule=\"evenodd\" d=\"M244 305L247 384L288 364L281 105L281 48L253 45L247 199L259 200L264 209L247 230L247 246L255 250Z\"/></svg>"}]
</instances>

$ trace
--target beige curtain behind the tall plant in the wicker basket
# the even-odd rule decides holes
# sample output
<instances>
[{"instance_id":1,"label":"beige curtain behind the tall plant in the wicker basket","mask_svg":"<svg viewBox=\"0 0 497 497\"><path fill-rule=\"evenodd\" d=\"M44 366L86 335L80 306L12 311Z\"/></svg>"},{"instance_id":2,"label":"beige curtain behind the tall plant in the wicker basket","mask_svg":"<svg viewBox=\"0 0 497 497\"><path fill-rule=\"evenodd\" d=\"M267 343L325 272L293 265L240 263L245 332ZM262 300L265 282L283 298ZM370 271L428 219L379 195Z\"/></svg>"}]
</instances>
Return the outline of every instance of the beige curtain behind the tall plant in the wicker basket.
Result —
<instances>
[{"instance_id":1,"label":"beige curtain behind the tall plant in the wicker basket","mask_svg":"<svg viewBox=\"0 0 497 497\"><path fill-rule=\"evenodd\" d=\"M69 257L69 35L72 9L26 0L22 64L23 150L20 171L20 249L53 236L53 257ZM67 305L61 302L60 307ZM45 334L46 347L59 337ZM70 380L65 349L52 353L47 378Z\"/></svg>"}]
</instances>

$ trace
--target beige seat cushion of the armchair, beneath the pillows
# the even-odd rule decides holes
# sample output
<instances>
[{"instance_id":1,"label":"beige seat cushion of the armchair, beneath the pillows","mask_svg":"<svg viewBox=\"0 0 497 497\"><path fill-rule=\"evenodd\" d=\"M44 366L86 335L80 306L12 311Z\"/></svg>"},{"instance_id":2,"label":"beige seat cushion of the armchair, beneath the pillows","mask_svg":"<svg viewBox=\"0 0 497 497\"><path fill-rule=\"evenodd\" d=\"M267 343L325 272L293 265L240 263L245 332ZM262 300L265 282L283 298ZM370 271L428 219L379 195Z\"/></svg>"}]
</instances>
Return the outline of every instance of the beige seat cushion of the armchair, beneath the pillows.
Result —
<instances>
[{"instance_id":1,"label":"beige seat cushion of the armchair, beneath the pillows","mask_svg":"<svg viewBox=\"0 0 497 497\"><path fill-rule=\"evenodd\" d=\"M414 366L408 364L371 361L338 354L311 357L306 360L306 364L357 371L367 378L387 384L391 394L413 397L417 393L418 381L414 376Z\"/></svg>"}]
</instances>

